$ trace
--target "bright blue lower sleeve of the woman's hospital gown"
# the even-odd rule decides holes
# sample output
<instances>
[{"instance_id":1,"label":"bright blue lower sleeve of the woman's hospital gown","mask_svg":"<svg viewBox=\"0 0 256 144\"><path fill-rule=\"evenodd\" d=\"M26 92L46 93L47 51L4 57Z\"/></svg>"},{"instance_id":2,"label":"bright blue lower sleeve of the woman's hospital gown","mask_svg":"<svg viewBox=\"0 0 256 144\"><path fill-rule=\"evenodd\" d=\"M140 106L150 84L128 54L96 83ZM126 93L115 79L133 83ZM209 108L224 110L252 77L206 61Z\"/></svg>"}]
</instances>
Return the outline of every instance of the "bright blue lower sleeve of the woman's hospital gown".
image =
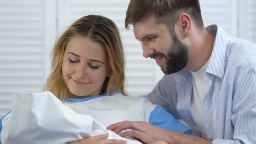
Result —
<instances>
[{"instance_id":1,"label":"bright blue lower sleeve of the woman's hospital gown","mask_svg":"<svg viewBox=\"0 0 256 144\"><path fill-rule=\"evenodd\" d=\"M192 134L191 129L189 129L186 125L176 120L169 112L167 112L160 105L157 105L155 109L153 109L152 112L150 113L149 123L170 131Z\"/></svg>"}]
</instances>

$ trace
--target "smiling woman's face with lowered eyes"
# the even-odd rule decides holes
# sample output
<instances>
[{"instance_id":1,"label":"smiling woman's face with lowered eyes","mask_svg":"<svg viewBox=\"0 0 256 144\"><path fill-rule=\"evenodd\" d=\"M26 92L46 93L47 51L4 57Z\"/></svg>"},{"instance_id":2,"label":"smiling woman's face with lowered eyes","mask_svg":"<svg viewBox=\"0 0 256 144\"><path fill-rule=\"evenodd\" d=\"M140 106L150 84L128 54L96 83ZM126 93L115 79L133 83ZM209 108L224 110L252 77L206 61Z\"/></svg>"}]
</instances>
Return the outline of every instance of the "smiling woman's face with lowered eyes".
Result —
<instances>
[{"instance_id":1,"label":"smiling woman's face with lowered eyes","mask_svg":"<svg viewBox=\"0 0 256 144\"><path fill-rule=\"evenodd\" d=\"M62 76L75 98L99 95L108 76L104 48L88 37L72 37L64 52Z\"/></svg>"}]
</instances>

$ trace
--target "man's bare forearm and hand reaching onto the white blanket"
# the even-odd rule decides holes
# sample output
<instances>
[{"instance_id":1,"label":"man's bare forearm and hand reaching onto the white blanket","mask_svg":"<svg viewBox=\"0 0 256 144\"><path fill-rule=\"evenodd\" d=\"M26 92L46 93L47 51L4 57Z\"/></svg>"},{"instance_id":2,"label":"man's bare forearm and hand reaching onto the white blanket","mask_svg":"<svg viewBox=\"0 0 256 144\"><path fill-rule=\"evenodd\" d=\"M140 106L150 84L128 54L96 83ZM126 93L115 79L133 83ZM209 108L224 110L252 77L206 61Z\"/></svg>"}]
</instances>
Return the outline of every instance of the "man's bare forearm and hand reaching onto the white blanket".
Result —
<instances>
[{"instance_id":1,"label":"man's bare forearm and hand reaching onto the white blanket","mask_svg":"<svg viewBox=\"0 0 256 144\"><path fill-rule=\"evenodd\" d=\"M131 129L131 131L125 131L120 136L131 136L147 144L155 141L166 141L168 144L211 144L212 142L209 139L168 131L144 121L123 121L107 127L107 130L112 130L115 133L120 133L127 129Z\"/></svg>"}]
</instances>

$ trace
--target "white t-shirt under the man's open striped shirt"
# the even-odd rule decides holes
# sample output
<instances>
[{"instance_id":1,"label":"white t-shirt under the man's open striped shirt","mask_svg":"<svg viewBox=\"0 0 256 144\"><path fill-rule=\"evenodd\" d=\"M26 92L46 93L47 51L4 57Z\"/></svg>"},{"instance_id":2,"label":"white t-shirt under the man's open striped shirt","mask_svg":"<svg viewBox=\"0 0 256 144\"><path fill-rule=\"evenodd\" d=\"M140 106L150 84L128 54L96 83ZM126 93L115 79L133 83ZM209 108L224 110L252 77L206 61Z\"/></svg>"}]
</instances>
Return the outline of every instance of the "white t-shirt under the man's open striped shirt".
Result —
<instances>
[{"instance_id":1,"label":"white t-shirt under the man's open striped shirt","mask_svg":"<svg viewBox=\"0 0 256 144\"><path fill-rule=\"evenodd\" d=\"M208 66L208 61L206 64L197 72L191 72L193 94L190 105L190 112L195 121L197 130L200 131L202 137L206 137L206 122L203 116L203 100L206 94L209 92L209 85L205 81L205 72Z\"/></svg>"}]
</instances>

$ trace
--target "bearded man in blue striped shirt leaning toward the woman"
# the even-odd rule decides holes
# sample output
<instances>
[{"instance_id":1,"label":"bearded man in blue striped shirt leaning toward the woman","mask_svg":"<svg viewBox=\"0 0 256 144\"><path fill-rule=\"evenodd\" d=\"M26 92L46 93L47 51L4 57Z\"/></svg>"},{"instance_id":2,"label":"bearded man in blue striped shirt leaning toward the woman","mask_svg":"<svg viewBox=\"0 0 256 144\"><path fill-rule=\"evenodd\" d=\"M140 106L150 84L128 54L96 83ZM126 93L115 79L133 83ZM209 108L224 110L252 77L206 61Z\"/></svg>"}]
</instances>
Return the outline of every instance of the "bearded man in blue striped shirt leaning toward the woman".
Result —
<instances>
[{"instance_id":1,"label":"bearded man in blue striped shirt leaning toward the woman","mask_svg":"<svg viewBox=\"0 0 256 144\"><path fill-rule=\"evenodd\" d=\"M165 73L147 96L194 136L125 121L107 129L145 143L256 144L256 45L204 27L199 0L131 0L125 27Z\"/></svg>"}]
</instances>

